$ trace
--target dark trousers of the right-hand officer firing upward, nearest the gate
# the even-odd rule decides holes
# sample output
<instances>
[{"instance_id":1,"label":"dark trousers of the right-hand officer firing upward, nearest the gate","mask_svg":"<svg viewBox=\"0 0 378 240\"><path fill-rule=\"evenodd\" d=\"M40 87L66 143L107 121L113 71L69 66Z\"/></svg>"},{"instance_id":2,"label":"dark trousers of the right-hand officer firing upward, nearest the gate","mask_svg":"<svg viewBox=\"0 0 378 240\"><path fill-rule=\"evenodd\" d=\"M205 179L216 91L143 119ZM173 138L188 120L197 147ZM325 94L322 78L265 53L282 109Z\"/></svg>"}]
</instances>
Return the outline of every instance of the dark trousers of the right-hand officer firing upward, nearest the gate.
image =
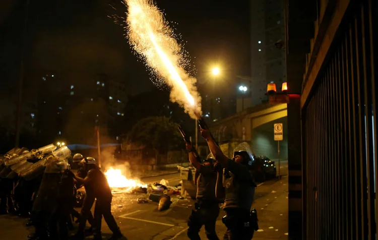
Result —
<instances>
[{"instance_id":1,"label":"dark trousers of the right-hand officer firing upward, nearest the gate","mask_svg":"<svg viewBox=\"0 0 378 240\"><path fill-rule=\"evenodd\" d=\"M223 222L227 230L224 233L223 240L250 240L254 236L254 228L250 224L245 226L245 222L249 222L249 212L243 209L225 209L226 219Z\"/></svg>"}]
</instances>

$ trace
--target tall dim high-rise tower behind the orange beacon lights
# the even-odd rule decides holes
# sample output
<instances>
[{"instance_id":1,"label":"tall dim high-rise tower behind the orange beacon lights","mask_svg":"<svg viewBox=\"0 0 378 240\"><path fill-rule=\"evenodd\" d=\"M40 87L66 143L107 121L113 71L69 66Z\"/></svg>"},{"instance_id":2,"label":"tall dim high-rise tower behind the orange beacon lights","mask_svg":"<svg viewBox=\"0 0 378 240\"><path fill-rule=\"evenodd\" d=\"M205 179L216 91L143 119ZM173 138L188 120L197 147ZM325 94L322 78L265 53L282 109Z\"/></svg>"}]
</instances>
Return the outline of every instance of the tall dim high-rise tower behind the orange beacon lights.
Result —
<instances>
[{"instance_id":1,"label":"tall dim high-rise tower behind the orange beacon lights","mask_svg":"<svg viewBox=\"0 0 378 240\"><path fill-rule=\"evenodd\" d=\"M284 1L251 0L251 101L268 101L268 83L286 82Z\"/></svg>"}]
</instances>

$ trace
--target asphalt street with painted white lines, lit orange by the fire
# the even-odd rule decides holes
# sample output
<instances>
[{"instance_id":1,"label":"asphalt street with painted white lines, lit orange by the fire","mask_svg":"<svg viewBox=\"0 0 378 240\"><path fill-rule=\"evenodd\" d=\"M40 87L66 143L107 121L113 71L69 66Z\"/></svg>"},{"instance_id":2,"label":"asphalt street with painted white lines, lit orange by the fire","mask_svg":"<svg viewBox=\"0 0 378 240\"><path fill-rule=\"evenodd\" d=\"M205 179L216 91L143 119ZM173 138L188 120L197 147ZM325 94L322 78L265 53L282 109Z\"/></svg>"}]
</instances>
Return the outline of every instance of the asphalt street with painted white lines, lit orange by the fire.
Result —
<instances>
[{"instance_id":1,"label":"asphalt street with painted white lines, lit orange by the fire","mask_svg":"<svg viewBox=\"0 0 378 240\"><path fill-rule=\"evenodd\" d=\"M287 161L281 162L281 174L287 174ZM165 179L169 182L170 186L175 186L180 181L180 174L166 174L162 176L155 176L155 177L147 177L143 178L142 181L145 183L155 183L160 182L161 179ZM285 180L286 179L286 180ZM285 182L286 181L286 182ZM278 197L278 199L282 198L284 203L280 203L277 205L277 209L274 211L267 211L264 215L269 217L266 222L268 225L272 225L271 221L277 218L277 212L283 211L280 216L285 214L287 215L287 177L283 177L282 179L271 179L263 184L259 184L258 188L256 189L255 193L255 202L254 204L259 207L259 209L263 209L264 206L267 205L265 202L270 198L271 200ZM272 197L272 193L279 193L277 197ZM178 196L172 196L171 201L172 204L170 208L166 211L159 212L157 210L158 203L155 202L148 202L144 204L137 203L138 198L147 198L148 194L126 194L126 193L119 193L113 195L112 201L112 213L122 231L122 233L129 239L129 240L168 240L168 239L187 239L186 236L186 221L188 216L191 214L191 211L194 206L194 200L192 199L179 199ZM282 201L281 201L282 202ZM263 207L260 207L260 205ZM272 206L274 203L272 203ZM254 206L254 205L253 205ZM262 210L260 210L262 211ZM217 222L217 231L219 231L219 237L221 238L222 235L220 232L224 231L224 226L220 222L221 217L224 215L224 212L221 211L219 216L219 221ZM260 217L259 217L260 219ZM2 232L0 236L0 240L2 239L27 239L27 235L29 232L33 232L33 227L26 227L27 219L20 218L17 216L12 215L3 215L0 216L0 231ZM264 223L264 220L262 220ZM287 226L287 221L283 221L280 223L280 231L273 233L280 233L279 238L283 236L284 233L281 231L287 231L285 228ZM284 224L284 225L282 225ZM277 225L277 224L276 224ZM219 228L219 230L218 230ZM203 231L203 230L202 230ZM102 232L103 238L106 239L107 237L111 236L111 231L107 227L105 221L103 220L102 224ZM264 232L258 232L257 237L259 234L261 235L261 239L266 239L265 235L262 235ZM203 234L203 233L201 233ZM267 235L268 236L268 235ZM106 237L106 238L105 238ZM91 239L92 236L88 236L86 239ZM256 238L256 237L254 237ZM206 238L203 238L206 239ZM260 238L257 238L260 239ZM270 237L269 239L276 239L275 237ZM278 238L277 238L278 239Z\"/></svg>"}]
</instances>

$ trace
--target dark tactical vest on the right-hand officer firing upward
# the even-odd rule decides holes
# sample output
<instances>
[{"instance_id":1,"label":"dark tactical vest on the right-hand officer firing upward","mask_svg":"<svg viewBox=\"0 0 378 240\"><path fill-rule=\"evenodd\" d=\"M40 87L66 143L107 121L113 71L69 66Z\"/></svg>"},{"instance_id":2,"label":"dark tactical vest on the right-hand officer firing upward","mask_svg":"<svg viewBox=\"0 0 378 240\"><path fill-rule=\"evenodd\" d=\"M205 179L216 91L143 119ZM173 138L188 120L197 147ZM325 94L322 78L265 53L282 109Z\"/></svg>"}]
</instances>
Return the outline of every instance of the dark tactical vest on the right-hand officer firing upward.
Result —
<instances>
[{"instance_id":1,"label":"dark tactical vest on the right-hand officer firing upward","mask_svg":"<svg viewBox=\"0 0 378 240\"><path fill-rule=\"evenodd\" d=\"M251 183L253 179L241 181L232 172L223 169L224 209L239 207L249 211L255 195L255 186Z\"/></svg>"}]
</instances>

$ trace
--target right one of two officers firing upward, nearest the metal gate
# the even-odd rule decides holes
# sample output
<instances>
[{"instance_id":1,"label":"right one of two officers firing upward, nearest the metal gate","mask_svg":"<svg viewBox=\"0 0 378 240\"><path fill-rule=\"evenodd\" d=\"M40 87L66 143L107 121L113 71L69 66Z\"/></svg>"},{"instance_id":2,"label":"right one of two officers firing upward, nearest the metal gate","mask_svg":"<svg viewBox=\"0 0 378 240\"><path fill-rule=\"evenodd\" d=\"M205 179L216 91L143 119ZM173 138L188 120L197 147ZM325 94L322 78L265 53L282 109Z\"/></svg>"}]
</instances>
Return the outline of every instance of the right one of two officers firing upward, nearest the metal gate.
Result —
<instances>
[{"instance_id":1,"label":"right one of two officers firing upward, nearest the metal gate","mask_svg":"<svg viewBox=\"0 0 378 240\"><path fill-rule=\"evenodd\" d=\"M201 135L209 145L215 159L224 167L223 186L225 187L224 211L222 221L227 230L224 240L250 240L258 229L257 212L250 211L254 201L256 184L250 171L254 155L247 143L242 143L234 150L229 159L215 143L209 130L201 129Z\"/></svg>"}]
</instances>

